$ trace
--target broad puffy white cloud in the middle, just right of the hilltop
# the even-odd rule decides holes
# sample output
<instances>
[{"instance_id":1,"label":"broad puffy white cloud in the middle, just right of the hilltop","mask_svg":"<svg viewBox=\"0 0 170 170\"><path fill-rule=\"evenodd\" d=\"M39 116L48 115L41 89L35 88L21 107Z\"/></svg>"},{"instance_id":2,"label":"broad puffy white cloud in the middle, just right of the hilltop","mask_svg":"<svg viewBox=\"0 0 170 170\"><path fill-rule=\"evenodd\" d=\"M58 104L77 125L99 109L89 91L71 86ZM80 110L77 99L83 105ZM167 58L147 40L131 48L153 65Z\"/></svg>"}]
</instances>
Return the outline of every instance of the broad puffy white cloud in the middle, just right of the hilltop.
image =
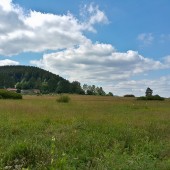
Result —
<instances>
[{"instance_id":1,"label":"broad puffy white cloud in the middle, just right of the hilltop","mask_svg":"<svg viewBox=\"0 0 170 170\"><path fill-rule=\"evenodd\" d=\"M110 44L87 42L52 54L31 64L50 70L69 80L102 83L127 80L150 70L165 68L160 61L145 58L136 51L117 52Z\"/></svg>"}]
</instances>

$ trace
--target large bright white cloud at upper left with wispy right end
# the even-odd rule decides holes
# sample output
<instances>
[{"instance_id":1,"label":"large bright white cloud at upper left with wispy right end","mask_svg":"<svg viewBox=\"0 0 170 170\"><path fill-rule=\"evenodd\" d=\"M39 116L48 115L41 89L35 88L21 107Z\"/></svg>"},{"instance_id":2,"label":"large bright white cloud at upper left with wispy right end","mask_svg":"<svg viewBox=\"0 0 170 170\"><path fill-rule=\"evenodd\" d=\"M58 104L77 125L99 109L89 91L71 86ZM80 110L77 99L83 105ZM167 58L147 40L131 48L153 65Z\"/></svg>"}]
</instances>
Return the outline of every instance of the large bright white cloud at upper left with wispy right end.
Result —
<instances>
[{"instance_id":1,"label":"large bright white cloud at upper left with wispy right end","mask_svg":"<svg viewBox=\"0 0 170 170\"><path fill-rule=\"evenodd\" d=\"M84 23L70 13L24 12L11 0L1 1L0 55L59 50L90 41L84 31L95 30L94 24L105 22L107 17L98 7L90 5L88 10L88 23Z\"/></svg>"}]
</instances>

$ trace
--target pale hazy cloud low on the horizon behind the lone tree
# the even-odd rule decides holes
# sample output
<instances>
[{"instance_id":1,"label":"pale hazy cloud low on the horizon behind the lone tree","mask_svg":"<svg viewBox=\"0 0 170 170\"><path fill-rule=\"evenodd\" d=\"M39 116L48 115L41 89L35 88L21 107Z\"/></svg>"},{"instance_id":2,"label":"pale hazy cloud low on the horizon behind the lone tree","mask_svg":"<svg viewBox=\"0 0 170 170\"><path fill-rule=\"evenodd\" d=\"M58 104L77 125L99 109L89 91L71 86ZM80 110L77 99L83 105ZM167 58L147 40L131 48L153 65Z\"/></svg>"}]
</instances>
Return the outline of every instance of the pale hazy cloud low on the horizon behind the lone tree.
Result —
<instances>
[{"instance_id":1,"label":"pale hazy cloud low on the horizon behind the lone tree","mask_svg":"<svg viewBox=\"0 0 170 170\"><path fill-rule=\"evenodd\" d=\"M163 97L170 97L167 91L170 91L170 76L163 76L157 79L128 80L106 85L107 91L112 91L115 95L123 96L125 94L135 94L136 96L145 96L146 88L153 90L153 95L159 94Z\"/></svg>"}]
</instances>

